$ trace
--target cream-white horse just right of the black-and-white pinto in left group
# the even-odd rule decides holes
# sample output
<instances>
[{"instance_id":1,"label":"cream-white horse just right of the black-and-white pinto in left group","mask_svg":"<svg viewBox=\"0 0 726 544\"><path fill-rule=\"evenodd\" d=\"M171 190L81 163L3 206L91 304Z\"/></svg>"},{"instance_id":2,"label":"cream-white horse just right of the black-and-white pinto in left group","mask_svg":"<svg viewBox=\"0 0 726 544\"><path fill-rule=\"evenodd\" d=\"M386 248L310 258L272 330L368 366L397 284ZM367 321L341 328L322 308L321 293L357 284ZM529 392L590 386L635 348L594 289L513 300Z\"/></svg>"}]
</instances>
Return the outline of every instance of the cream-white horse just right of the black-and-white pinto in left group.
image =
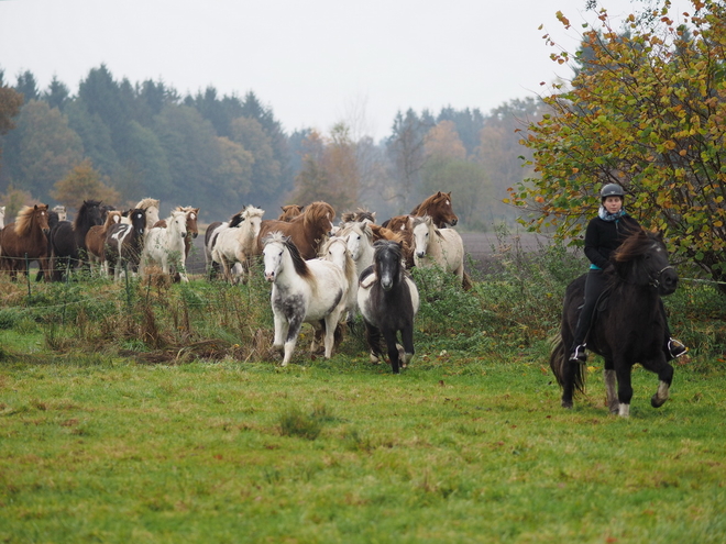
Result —
<instances>
[{"instance_id":1,"label":"cream-white horse just right of the black-and-white pinto in left group","mask_svg":"<svg viewBox=\"0 0 726 544\"><path fill-rule=\"evenodd\" d=\"M185 248L187 212L174 210L164 223L166 226L148 229L142 249L141 267L144 269L148 265L160 264L162 273L166 275L169 275L170 267L174 267L179 273L180 280L188 284Z\"/></svg>"}]
</instances>

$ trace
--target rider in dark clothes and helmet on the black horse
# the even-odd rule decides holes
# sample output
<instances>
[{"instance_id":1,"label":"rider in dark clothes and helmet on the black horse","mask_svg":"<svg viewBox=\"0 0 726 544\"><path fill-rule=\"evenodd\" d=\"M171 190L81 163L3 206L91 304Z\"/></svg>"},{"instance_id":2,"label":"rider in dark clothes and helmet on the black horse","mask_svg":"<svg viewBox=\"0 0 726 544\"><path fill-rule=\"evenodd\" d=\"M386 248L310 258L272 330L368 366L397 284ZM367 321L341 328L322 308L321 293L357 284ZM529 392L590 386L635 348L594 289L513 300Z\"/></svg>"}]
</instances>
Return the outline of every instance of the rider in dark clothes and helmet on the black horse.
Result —
<instances>
[{"instance_id":1,"label":"rider in dark clothes and helmet on the black horse","mask_svg":"<svg viewBox=\"0 0 726 544\"><path fill-rule=\"evenodd\" d=\"M570 353L570 360L582 364L587 360L585 337L592 324L595 304L605 289L605 275L603 273L613 266L609 260L610 254L620 246L628 234L640 229L640 224L628 215L625 208L623 208L625 198L623 187L617 184L607 184L601 189L600 198L602 206L597 217L590 221L585 231L585 256L590 259L591 265L585 281L585 303L580 311ZM663 318L666 317L664 311L663 309ZM688 352L681 342L671 337L668 320L666 320L663 351L668 360L680 357Z\"/></svg>"}]
</instances>

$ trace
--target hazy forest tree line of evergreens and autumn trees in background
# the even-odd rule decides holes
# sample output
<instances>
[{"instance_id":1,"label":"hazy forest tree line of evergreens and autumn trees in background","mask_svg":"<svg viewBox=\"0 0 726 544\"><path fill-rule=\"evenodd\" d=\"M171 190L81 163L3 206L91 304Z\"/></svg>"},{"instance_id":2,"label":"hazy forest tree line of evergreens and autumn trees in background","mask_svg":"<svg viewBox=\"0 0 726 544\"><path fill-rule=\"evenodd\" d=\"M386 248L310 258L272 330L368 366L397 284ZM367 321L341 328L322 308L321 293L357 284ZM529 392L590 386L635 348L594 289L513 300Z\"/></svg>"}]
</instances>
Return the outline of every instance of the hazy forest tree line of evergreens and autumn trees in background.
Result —
<instances>
[{"instance_id":1,"label":"hazy forest tree line of evergreens and autumn trees in background","mask_svg":"<svg viewBox=\"0 0 726 544\"><path fill-rule=\"evenodd\" d=\"M182 97L162 81L118 80L92 68L75 93L54 78L38 89L28 70L14 84L0 70L0 204L85 198L125 208L141 198L201 208L227 218L248 203L276 217L286 203L330 202L391 217L437 190L452 191L466 229L510 222L502 202L521 181L516 129L537 119L535 99L483 114L443 108L399 112L381 142L354 137L345 120L327 134L286 133L254 92L219 96L213 87ZM382 220L385 218L382 218Z\"/></svg>"}]
</instances>

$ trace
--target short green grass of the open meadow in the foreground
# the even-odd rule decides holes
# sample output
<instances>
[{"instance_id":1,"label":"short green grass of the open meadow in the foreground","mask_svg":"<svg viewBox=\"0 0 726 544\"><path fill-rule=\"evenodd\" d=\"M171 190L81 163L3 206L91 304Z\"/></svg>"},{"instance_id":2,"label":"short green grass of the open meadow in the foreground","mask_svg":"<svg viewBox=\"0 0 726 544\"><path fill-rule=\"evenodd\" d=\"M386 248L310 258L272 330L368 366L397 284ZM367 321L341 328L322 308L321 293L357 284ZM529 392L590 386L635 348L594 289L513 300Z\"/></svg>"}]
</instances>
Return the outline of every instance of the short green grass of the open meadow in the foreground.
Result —
<instances>
[{"instance_id":1,"label":"short green grass of the open meadow in the foreground","mask_svg":"<svg viewBox=\"0 0 726 544\"><path fill-rule=\"evenodd\" d=\"M623 420L597 370L562 410L536 364L358 359L3 367L0 540L726 537L717 365L679 367L659 410L637 370Z\"/></svg>"}]
</instances>

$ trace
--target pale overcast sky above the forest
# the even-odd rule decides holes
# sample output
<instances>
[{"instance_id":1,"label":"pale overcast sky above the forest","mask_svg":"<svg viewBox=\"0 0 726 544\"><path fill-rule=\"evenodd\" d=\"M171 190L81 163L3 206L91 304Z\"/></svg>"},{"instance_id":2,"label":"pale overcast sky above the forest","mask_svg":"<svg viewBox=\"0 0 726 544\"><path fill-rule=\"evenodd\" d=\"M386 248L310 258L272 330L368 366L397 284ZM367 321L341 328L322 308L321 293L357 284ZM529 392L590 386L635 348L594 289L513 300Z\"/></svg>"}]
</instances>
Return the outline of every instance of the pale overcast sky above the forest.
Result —
<instances>
[{"instance_id":1,"label":"pale overcast sky above the forest","mask_svg":"<svg viewBox=\"0 0 726 544\"><path fill-rule=\"evenodd\" d=\"M547 93L569 79L550 59L593 22L585 0L0 0L6 84L30 70L75 95L91 68L164 81L182 96L253 91L288 133L391 131L398 111L480 109ZM622 21L638 0L602 0ZM674 0L672 14L690 5ZM565 31L556 13L570 20ZM543 25L540 29L540 25Z\"/></svg>"}]
</instances>

